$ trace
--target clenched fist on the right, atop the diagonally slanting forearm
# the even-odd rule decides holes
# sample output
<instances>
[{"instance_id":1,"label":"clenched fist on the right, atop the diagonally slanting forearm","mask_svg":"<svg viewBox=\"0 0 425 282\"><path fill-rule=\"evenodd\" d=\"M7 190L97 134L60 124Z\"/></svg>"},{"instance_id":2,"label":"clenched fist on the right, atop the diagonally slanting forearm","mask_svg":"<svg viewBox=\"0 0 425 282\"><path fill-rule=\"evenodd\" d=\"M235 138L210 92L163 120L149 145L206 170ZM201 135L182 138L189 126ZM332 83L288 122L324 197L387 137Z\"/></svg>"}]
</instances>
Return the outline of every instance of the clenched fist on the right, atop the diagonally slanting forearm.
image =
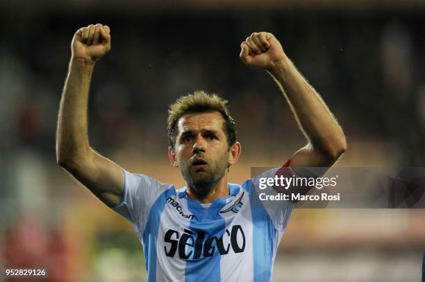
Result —
<instances>
[{"instance_id":1,"label":"clenched fist on the right, atop the diagonally slanting forearm","mask_svg":"<svg viewBox=\"0 0 425 282\"><path fill-rule=\"evenodd\" d=\"M272 33L252 33L240 48L240 58L248 67L271 71L276 62L286 59L281 43Z\"/></svg>"}]
</instances>

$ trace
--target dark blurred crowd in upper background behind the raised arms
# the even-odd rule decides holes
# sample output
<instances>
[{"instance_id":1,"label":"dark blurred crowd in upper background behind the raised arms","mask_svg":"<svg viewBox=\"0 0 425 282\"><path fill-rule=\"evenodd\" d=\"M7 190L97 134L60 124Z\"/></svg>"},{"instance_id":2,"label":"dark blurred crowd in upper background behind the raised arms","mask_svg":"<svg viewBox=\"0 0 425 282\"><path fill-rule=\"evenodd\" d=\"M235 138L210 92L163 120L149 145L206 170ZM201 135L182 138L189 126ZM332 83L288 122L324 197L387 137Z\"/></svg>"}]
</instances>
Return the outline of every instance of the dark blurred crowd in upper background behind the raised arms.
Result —
<instances>
[{"instance_id":1,"label":"dark blurred crowd in upper background behind the raised arms","mask_svg":"<svg viewBox=\"0 0 425 282\"><path fill-rule=\"evenodd\" d=\"M238 58L247 35L268 30L322 94L348 139L392 141L399 165L424 162L425 55L419 15L281 11L253 19L249 12L246 18L52 13L3 15L2 21L2 155L28 148L54 157L72 36L77 28L102 21L112 29L113 50L97 64L90 98L90 138L99 150L137 146L163 151L167 105L196 89L228 98L240 137L248 142L265 142L256 138L258 133L276 139L297 134L274 82Z\"/></svg>"}]
</instances>

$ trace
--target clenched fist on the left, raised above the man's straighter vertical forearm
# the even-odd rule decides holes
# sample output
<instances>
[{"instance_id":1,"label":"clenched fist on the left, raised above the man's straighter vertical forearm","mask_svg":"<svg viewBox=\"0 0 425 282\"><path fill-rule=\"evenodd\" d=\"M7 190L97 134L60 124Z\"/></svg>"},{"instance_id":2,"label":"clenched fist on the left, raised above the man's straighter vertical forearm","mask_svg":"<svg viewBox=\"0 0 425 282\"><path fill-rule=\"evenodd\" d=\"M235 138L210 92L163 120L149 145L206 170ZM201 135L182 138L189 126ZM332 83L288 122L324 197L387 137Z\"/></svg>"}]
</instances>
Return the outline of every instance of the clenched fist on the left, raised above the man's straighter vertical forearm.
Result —
<instances>
[{"instance_id":1,"label":"clenched fist on the left, raised above the man's straighter vertical forearm","mask_svg":"<svg viewBox=\"0 0 425 282\"><path fill-rule=\"evenodd\" d=\"M110 51L110 28L102 24L90 24L80 28L72 39L73 59L96 62Z\"/></svg>"}]
</instances>

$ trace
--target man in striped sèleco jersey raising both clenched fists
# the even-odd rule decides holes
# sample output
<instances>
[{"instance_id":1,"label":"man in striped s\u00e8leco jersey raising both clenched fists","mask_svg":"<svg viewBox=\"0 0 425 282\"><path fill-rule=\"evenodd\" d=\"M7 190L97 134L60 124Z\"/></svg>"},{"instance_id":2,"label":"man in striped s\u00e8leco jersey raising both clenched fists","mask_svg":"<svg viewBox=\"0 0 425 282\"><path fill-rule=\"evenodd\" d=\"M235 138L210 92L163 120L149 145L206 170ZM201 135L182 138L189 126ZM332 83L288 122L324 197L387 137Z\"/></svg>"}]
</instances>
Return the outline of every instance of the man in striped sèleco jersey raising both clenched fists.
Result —
<instances>
[{"instance_id":1,"label":"man in striped s\u00e8leco jersey raising both clenched fists","mask_svg":"<svg viewBox=\"0 0 425 282\"><path fill-rule=\"evenodd\" d=\"M58 164L133 223L149 281L269 281L294 204L254 209L258 179L227 183L241 145L225 100L197 91L169 109L169 159L181 170L185 188L128 173L90 148L90 79L95 62L109 50L108 26L90 25L74 35L58 117ZM346 150L344 134L278 40L253 33L242 42L240 58L272 75L308 139L285 166L300 175L303 166L331 166ZM276 173L278 168L265 175Z\"/></svg>"}]
</instances>

